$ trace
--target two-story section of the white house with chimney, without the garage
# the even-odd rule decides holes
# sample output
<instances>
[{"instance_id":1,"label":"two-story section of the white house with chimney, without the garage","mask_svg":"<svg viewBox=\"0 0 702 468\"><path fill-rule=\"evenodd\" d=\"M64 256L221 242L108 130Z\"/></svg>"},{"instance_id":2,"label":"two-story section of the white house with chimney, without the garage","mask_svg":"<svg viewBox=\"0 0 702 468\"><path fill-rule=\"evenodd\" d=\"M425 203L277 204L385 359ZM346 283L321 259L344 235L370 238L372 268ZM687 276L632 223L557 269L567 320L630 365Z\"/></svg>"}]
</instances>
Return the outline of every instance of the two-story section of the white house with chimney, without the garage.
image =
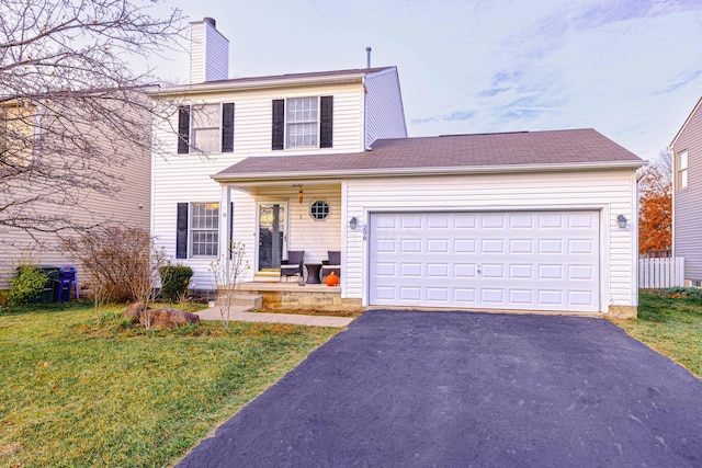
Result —
<instances>
[{"instance_id":1,"label":"two-story section of the white house with chimney, without the garage","mask_svg":"<svg viewBox=\"0 0 702 468\"><path fill-rule=\"evenodd\" d=\"M406 137L397 69L226 79L228 42L214 21L192 23L192 35L191 83L154 94L180 105L157 129L170 147L154 157L152 233L193 267L197 288L212 288L210 264L229 239L244 241L257 279L278 281L287 250L325 260L341 248L338 183L303 180L223 196L212 175L250 157L358 153L377 138Z\"/></svg>"}]
</instances>

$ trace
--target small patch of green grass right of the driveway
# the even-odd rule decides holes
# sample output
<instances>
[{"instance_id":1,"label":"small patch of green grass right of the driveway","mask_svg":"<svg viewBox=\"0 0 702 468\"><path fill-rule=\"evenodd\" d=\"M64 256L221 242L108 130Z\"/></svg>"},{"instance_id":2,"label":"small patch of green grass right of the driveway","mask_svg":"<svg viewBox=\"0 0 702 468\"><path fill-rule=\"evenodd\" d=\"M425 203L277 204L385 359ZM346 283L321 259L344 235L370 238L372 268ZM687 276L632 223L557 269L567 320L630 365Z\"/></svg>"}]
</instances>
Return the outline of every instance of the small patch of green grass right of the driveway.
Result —
<instances>
[{"instance_id":1,"label":"small patch of green grass right of the driveway","mask_svg":"<svg viewBox=\"0 0 702 468\"><path fill-rule=\"evenodd\" d=\"M641 293L638 318L616 324L702 377L702 298Z\"/></svg>"}]
</instances>

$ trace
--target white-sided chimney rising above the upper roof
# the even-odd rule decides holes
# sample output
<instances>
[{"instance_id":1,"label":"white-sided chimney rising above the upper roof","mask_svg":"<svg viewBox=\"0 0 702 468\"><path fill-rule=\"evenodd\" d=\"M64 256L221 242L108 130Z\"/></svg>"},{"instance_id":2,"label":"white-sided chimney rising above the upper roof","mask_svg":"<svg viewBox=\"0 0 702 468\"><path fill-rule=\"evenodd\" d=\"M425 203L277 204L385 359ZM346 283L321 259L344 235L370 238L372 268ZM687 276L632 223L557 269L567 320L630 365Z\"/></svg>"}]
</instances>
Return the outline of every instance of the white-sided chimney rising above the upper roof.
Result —
<instances>
[{"instance_id":1,"label":"white-sided chimney rising above the upper roof","mask_svg":"<svg viewBox=\"0 0 702 468\"><path fill-rule=\"evenodd\" d=\"M212 18L190 23L190 83L229 78L229 39Z\"/></svg>"}]
</instances>

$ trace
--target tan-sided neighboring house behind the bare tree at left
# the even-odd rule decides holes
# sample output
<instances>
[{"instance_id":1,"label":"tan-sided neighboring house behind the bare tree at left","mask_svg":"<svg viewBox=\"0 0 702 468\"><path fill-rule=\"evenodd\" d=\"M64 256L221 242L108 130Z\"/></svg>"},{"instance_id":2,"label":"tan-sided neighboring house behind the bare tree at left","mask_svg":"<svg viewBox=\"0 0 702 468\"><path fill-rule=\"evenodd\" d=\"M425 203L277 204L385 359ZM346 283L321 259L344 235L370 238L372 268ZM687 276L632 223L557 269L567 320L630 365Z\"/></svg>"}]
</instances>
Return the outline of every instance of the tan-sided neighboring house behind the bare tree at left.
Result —
<instances>
[{"instance_id":1,"label":"tan-sided neighboring house behind the bare tree at left","mask_svg":"<svg viewBox=\"0 0 702 468\"><path fill-rule=\"evenodd\" d=\"M63 251L59 235L104 224L149 229L150 115L123 105L146 98L128 90L93 94L103 98L102 115L80 93L0 101L0 289L9 288L21 261L77 263ZM143 132L122 126L129 139L103 124L112 106ZM115 113L106 118L127 122ZM87 279L80 265L79 277Z\"/></svg>"}]
</instances>

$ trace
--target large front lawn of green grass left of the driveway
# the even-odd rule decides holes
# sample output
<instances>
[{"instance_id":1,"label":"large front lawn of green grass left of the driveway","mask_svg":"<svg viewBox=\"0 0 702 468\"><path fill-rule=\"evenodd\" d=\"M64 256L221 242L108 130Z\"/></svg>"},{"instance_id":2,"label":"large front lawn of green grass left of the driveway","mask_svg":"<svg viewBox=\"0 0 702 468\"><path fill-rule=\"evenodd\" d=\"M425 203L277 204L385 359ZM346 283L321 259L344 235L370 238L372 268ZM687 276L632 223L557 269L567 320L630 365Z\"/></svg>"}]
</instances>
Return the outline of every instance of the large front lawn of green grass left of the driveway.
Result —
<instances>
[{"instance_id":1,"label":"large front lawn of green grass left of the driveway","mask_svg":"<svg viewBox=\"0 0 702 468\"><path fill-rule=\"evenodd\" d=\"M0 466L158 467L338 330L145 331L90 306L0 315Z\"/></svg>"}]
</instances>

